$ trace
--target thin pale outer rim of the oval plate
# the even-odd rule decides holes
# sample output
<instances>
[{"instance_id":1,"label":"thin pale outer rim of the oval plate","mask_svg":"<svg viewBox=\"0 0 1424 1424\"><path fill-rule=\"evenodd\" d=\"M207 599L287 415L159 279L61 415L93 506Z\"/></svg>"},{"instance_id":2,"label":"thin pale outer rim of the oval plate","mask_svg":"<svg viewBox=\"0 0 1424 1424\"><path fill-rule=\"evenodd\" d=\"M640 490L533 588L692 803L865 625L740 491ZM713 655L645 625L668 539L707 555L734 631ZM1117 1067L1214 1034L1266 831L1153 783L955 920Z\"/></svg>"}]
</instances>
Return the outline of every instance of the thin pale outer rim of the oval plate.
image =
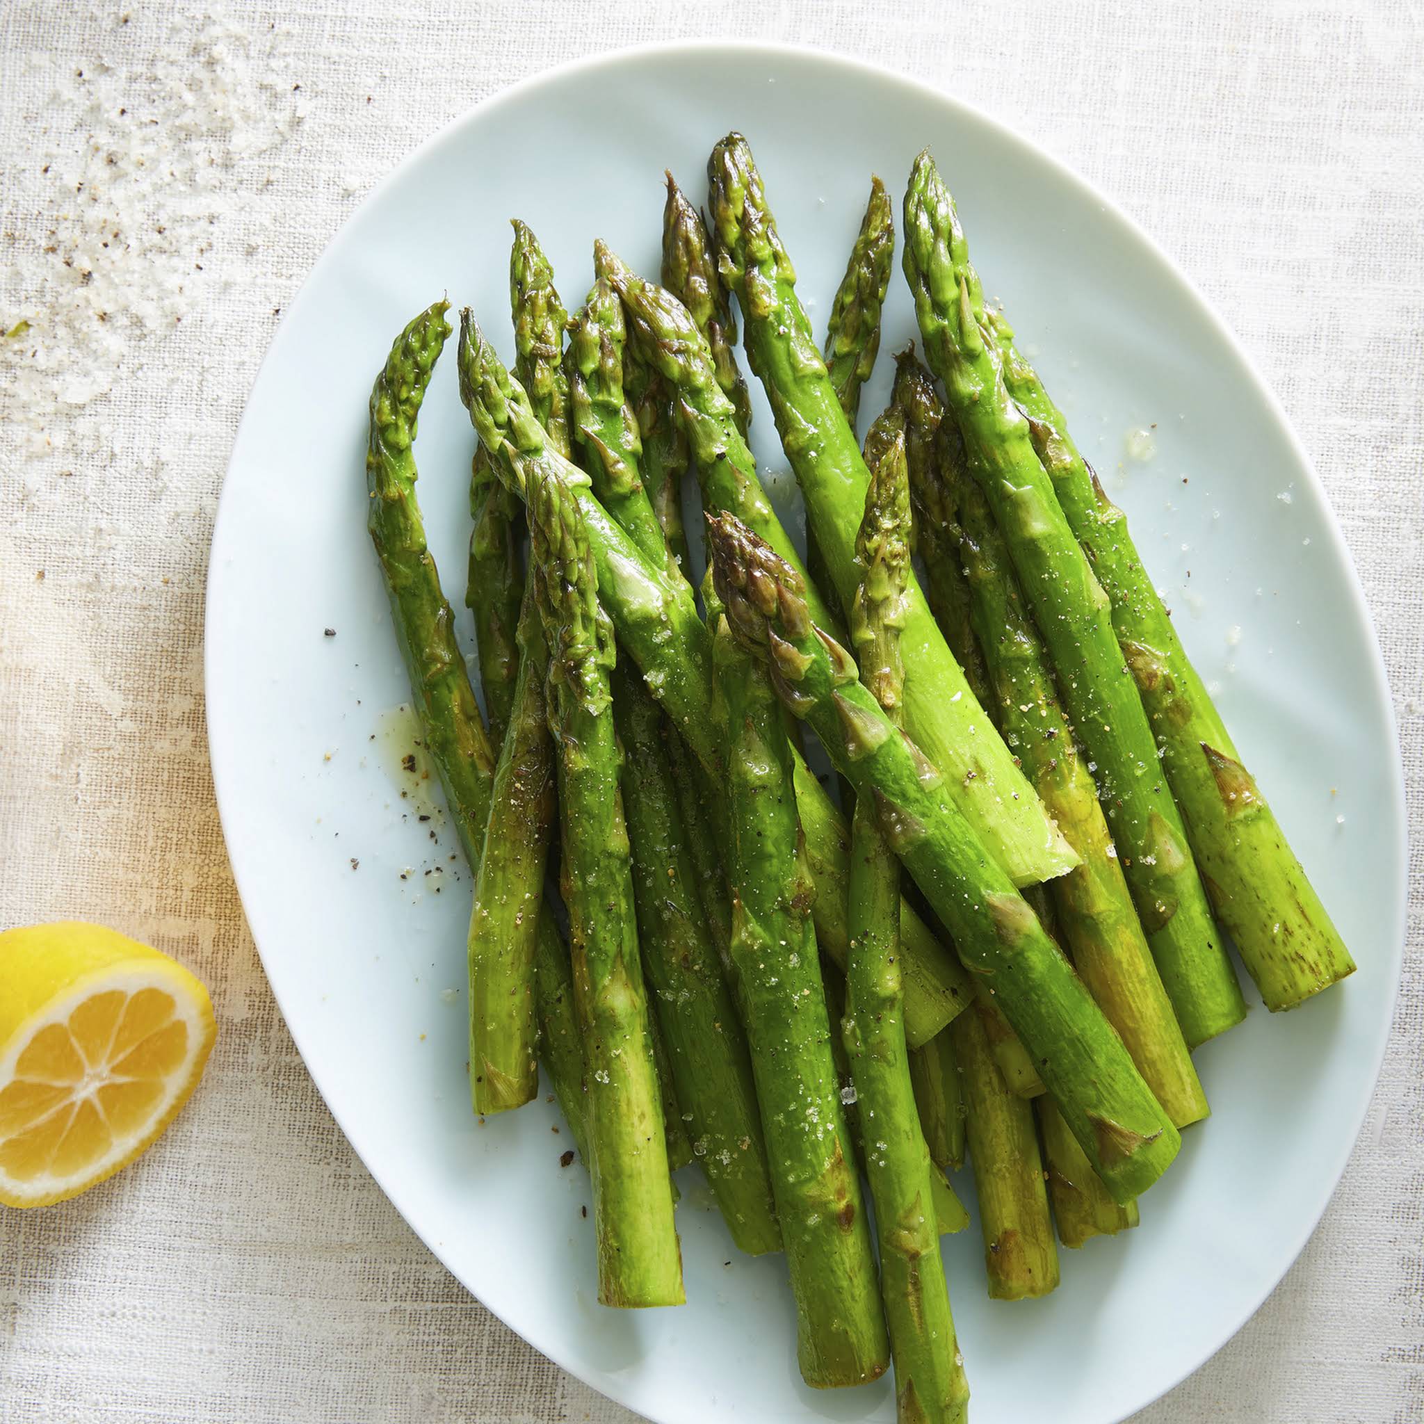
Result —
<instances>
[{"instance_id":1,"label":"thin pale outer rim of the oval plate","mask_svg":"<svg viewBox=\"0 0 1424 1424\"><path fill-rule=\"evenodd\" d=\"M1350 547L1344 537L1344 530L1340 525L1339 515L1330 501L1329 490L1321 480L1319 471L1316 470L1314 461L1310 453L1306 450L1300 436L1297 434L1294 426L1292 424L1286 409L1276 396L1276 392L1266 380L1263 372L1260 370L1255 356L1245 346L1242 339L1232 330L1226 323L1225 318L1216 310L1216 308L1206 299L1200 288L1188 276L1182 265L1176 258L1168 252L1131 214L1128 214L1115 198L1101 189L1096 184L1087 179L1075 168L1067 164L1064 159L1058 158L1048 147L1030 138L1017 125L998 118L990 111L973 104L958 95L950 93L946 88L937 87L927 80L918 78L917 75L906 74L900 70L891 68L887 64L880 64L876 61L864 60L856 56L849 56L837 50L823 48L819 46L807 43L793 43L793 41L772 41L772 40L736 40L736 38L718 38L718 37L702 37L702 38L688 38L688 40L654 40L639 44L619 46L618 48L604 50L594 54L580 56L575 58L564 60L560 64L551 66L544 70L538 70L533 74L527 74L523 78L504 85L503 88L477 100L463 112L454 115L441 124L437 130L423 138L414 148L406 152L390 169L382 175L377 182L362 197L362 199L346 214L340 225L326 241L322 248L320 255L312 263L310 269L302 278L296 292L292 295L290 300L285 303L282 316L278 326L268 343L266 350L262 355L262 360L258 365L256 373L248 389L246 399L242 406L242 416L238 422L236 431L234 434L232 449L228 454L228 461L224 468L222 487L218 497L218 508L214 517L212 537L208 547L208 571L205 578L204 591L204 725L206 731L208 740L208 762L212 775L214 785L214 800L218 807L218 820L222 827L224 844L229 844L228 833L228 816L229 813L224 810L224 802L226 796L231 796L229 787L232 780L236 779L238 770L232 766L224 768L221 765L221 753L215 745L214 738L214 699L209 695L214 672L215 672L215 655L214 655L214 628L216 622L216 607L222 597L224 572L222 562L218 558L219 545L224 543L225 520L224 510L228 507L228 487L229 477L234 473L234 463L244 443L244 436L248 433L249 423L253 422L252 414L252 400L258 387L262 384L262 379L268 372L268 366L273 362L278 349L283 345L283 336L289 329L289 325L302 316L305 308L310 299L312 279L318 269L322 266L326 256L330 253L333 246L343 241L347 229L356 222L356 219L366 211L367 205L380 199L386 191L394 185L397 178L404 175L407 169L422 162L430 152L433 152L440 145L449 142L460 130L468 124L481 122L491 112L498 111L501 107L514 103L524 95L537 91L540 88L557 88L568 78L574 75L581 75L588 71L595 71L601 68L617 68L628 61L659 58L659 57L685 57L685 56L711 56L711 54L726 54L733 61L786 61L793 60L799 63L810 63L826 66L827 68L839 68L843 74L854 75L859 78L873 78L881 83L890 83L894 85L901 85L909 88L920 98L927 100L934 104L944 105L946 108L956 112L960 120L967 120L973 124L981 124L988 130L997 131L997 134L1007 140L1012 147L1025 152L1027 157L1048 165L1055 175L1067 182L1079 197L1089 199L1105 218L1112 224L1125 229L1125 234L1141 245L1142 251L1148 253L1153 262L1158 265L1159 272L1171 279L1180 296L1183 296L1192 312L1215 333L1215 336L1223 342L1223 345L1230 350L1230 353L1240 363L1246 377L1250 382L1252 393L1263 404L1265 410L1273 417L1279 433L1283 436L1292 456L1297 461L1299 467L1306 473L1312 491L1319 500L1321 510L1324 513L1324 525L1329 531L1330 545L1333 554L1339 558L1340 564L1347 571L1347 588L1350 592L1350 607L1349 612L1356 621L1356 628L1364 635L1364 639L1370 651L1370 665L1374 676L1374 692L1378 696L1380 703L1386 713L1386 731L1390 740L1390 765L1393 776L1390 778L1388 792L1391 797L1393 816L1393 839L1397 846L1397 856L1394 864L1394 873L1400 883L1401 894L1397 903L1391 907L1393 923L1388 927L1386 943L1391 947L1391 958L1388 964L1381 964L1381 970L1387 970L1388 974L1388 1011L1386 1017L1384 1031L1378 1035L1378 1042L1374 1049L1374 1062L1368 1074L1367 1091L1361 1094L1361 1101L1354 1108L1356 1124L1349 1139L1343 1145L1341 1151L1337 1153L1337 1159L1331 1163L1327 1173L1321 1173L1319 1190L1319 1200L1313 1205L1307 1222L1299 1233L1297 1239L1292 1245L1289 1257L1280 1267L1279 1273L1273 1273L1273 1277L1267 1282L1260 1294L1255 1299L1250 1307L1229 1323L1220 1337L1206 1347L1189 1366L1173 1371L1172 1377L1168 1378L1155 1394L1149 1398L1141 1400L1134 1405L1132 1413L1138 1413L1161 1400L1163 1396L1169 1394L1186 1378L1202 1368L1213 1356L1216 1356L1230 1340L1233 1340L1246 1324L1259 1313L1265 1302L1274 1293L1284 1280L1286 1274L1299 1262L1302 1252L1309 1243L1310 1237L1314 1235L1324 1215L1326 1208L1330 1205L1336 1190L1340 1186L1340 1180L1349 1165L1350 1156L1358 1142L1360 1132L1364 1128L1370 1104L1373 1102L1374 1092L1378 1087L1380 1072L1384 1065L1384 1055L1388 1051L1390 1041L1393 1038L1393 1020L1398 1007L1400 983L1403 975L1403 961L1404 961L1404 946L1407 938L1407 917L1408 917L1408 863L1410 863L1410 846L1408 846L1408 810L1407 810L1407 793L1404 782L1404 762L1400 748L1398 735L1398 716L1394 706L1394 698L1388 681L1388 669L1384 664L1384 654L1380 646L1378 634L1376 631L1374 618L1370 611L1368 601L1366 598L1364 585L1360 580L1358 570L1356 568L1354 558L1351 557ZM221 738L219 738L221 740ZM288 1012L286 1004L282 1001L282 994L273 981L273 975L268 968L268 956L262 948L261 940L256 931L252 928L252 916L248 911L248 894L244 890L244 874L239 870L236 862L232 859L231 852L228 853L228 864L232 870L234 884L238 890L238 899L242 903L244 918L248 921L248 930L252 934L253 946L258 951L258 958L262 963L263 975L268 981L272 995L276 1001L278 1010L282 1014L282 1021L286 1025L288 1032L292 1035L292 1041L302 1055L303 1067L312 1078L313 1085L322 1096L326 1109L332 1114L333 1121L340 1129L346 1142L360 1159L362 1166L370 1173L372 1179L384 1193L386 1199L396 1208L400 1213L402 1220L414 1233L414 1236L426 1246L427 1250L440 1262L440 1265L450 1273L450 1276L467 1290L476 1300L480 1302L481 1307L494 1314L501 1324L506 1326L511 1333L518 1336L530 1349L543 1354L547 1360L558 1366L565 1373L574 1376L581 1383L604 1394L607 1398L614 1400L631 1413L638 1413L634 1404L627 1400L627 1391L617 1391L609 1387L614 1384L612 1380L592 1380L590 1376L580 1368L578 1364L571 1363L565 1357L565 1351L558 1349L545 1350L541 1346L534 1344L527 1336L523 1334L515 1326L513 1326L506 1316L487 1304L484 1299L473 1290L460 1274L450 1266L446 1259L444 1252L440 1246L430 1239L406 1213L402 1206L400 1198L403 1193L393 1190L384 1175L377 1171L377 1168L367 1161L366 1153L357 1146L356 1136L353 1136L350 1128L343 1121L342 1115L337 1114L336 1108L332 1105L330 1098L323 1087L322 1075L318 1072L312 1059L308 1057L306 1049L302 1044L302 1035L296 1030L292 1017ZM1122 1424L1129 1415L1121 1415L1114 1424Z\"/></svg>"}]
</instances>

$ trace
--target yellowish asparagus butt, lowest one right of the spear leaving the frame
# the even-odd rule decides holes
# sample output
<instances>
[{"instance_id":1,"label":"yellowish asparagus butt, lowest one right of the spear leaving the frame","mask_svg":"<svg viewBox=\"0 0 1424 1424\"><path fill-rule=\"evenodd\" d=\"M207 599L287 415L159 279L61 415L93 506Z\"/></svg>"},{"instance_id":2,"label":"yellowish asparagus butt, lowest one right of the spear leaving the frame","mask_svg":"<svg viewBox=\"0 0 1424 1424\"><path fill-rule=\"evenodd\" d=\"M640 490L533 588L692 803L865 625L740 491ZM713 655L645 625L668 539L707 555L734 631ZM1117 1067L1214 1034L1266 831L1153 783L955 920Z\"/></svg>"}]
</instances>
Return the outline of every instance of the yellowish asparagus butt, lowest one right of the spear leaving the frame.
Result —
<instances>
[{"instance_id":1,"label":"yellowish asparagus butt, lowest one right of the spear leaving the frame","mask_svg":"<svg viewBox=\"0 0 1424 1424\"><path fill-rule=\"evenodd\" d=\"M1058 1250L1032 1105L1004 1085L977 1011L960 1014L950 1037L967 1108L988 1293L995 1300L1047 1296L1058 1284Z\"/></svg>"}]
</instances>

